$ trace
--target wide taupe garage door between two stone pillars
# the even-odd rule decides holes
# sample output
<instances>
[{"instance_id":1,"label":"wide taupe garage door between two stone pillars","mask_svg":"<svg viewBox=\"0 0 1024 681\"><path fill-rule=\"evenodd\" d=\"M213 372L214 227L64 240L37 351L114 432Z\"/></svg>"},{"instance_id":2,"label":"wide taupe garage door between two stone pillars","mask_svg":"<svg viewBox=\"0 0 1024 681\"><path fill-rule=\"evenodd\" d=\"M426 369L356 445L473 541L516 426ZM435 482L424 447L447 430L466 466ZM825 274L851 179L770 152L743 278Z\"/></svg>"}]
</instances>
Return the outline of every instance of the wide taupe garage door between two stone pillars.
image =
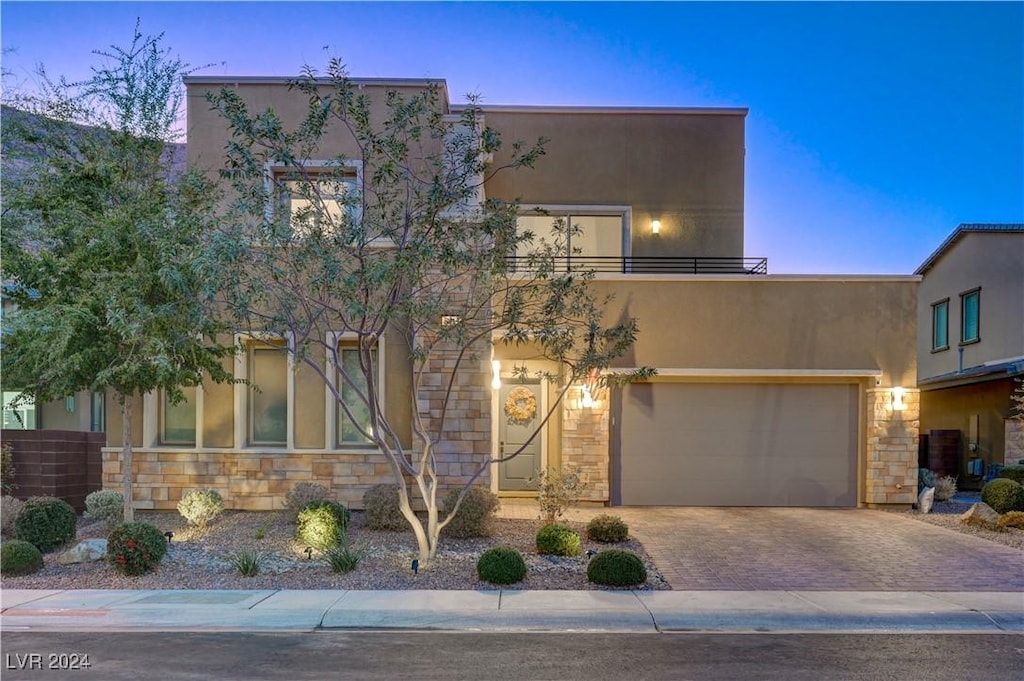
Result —
<instances>
[{"instance_id":1,"label":"wide taupe garage door between two stone pillars","mask_svg":"<svg viewBox=\"0 0 1024 681\"><path fill-rule=\"evenodd\" d=\"M649 383L620 399L616 503L856 506L856 385Z\"/></svg>"}]
</instances>

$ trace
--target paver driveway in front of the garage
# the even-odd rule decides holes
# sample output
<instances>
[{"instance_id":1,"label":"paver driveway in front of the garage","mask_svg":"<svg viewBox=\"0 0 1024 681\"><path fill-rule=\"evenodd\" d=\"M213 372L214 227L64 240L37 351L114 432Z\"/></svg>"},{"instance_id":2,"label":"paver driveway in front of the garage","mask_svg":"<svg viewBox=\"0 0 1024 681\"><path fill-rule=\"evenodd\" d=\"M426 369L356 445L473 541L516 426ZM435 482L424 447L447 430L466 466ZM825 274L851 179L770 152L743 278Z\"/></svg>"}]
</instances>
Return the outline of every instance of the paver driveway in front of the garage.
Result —
<instances>
[{"instance_id":1,"label":"paver driveway in front of the garage","mask_svg":"<svg viewBox=\"0 0 1024 681\"><path fill-rule=\"evenodd\" d=\"M673 589L1024 591L1024 552L866 509L575 508L622 516ZM502 515L537 507L502 504Z\"/></svg>"}]
</instances>

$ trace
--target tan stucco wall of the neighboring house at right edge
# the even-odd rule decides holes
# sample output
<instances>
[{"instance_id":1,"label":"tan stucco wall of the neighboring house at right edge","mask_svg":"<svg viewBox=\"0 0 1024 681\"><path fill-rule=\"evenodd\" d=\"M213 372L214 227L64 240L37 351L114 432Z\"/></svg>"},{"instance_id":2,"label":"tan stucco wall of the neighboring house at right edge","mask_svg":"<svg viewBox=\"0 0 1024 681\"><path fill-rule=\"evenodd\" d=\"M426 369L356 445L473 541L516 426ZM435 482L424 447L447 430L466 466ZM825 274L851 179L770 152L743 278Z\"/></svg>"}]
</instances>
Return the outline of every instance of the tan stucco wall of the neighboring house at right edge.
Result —
<instances>
[{"instance_id":1,"label":"tan stucco wall of the neighboring house at right edge","mask_svg":"<svg viewBox=\"0 0 1024 681\"><path fill-rule=\"evenodd\" d=\"M964 368L1024 355L1024 232L967 232L921 283L920 379L957 371L959 295L977 287L981 287L981 340L963 346ZM949 299L949 349L932 352L932 304L945 298Z\"/></svg>"}]
</instances>

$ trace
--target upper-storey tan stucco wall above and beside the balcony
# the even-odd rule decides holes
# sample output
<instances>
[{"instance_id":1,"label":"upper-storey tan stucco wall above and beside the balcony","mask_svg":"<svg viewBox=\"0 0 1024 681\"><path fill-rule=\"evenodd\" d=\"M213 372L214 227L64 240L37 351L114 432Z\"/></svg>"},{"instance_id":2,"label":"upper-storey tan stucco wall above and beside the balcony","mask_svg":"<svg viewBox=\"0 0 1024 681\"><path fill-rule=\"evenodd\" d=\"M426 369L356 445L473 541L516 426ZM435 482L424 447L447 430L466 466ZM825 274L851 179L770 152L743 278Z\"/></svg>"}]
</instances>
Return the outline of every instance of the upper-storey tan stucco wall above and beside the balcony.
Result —
<instances>
[{"instance_id":1,"label":"upper-storey tan stucco wall above and beside the balcony","mask_svg":"<svg viewBox=\"0 0 1024 681\"><path fill-rule=\"evenodd\" d=\"M490 198L523 206L631 206L632 255L743 255L744 110L610 113L484 108L505 145L549 139L535 168L501 172ZM599 142L596 142L599 140ZM660 233L650 222L660 220ZM757 255L757 254L755 254Z\"/></svg>"}]
</instances>

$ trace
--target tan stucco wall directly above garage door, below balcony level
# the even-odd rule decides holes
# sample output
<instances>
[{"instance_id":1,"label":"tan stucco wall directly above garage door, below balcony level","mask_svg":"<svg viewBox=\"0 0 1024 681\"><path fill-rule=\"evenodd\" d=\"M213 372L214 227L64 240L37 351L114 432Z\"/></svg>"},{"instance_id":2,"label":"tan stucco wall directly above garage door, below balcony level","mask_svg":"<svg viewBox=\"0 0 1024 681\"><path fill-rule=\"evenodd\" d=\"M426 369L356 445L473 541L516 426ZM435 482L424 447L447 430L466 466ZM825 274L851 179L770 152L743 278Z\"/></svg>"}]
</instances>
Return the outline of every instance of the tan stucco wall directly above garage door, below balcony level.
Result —
<instances>
[{"instance_id":1,"label":"tan stucco wall directly above garage door, below balcony level","mask_svg":"<svg viewBox=\"0 0 1024 681\"><path fill-rule=\"evenodd\" d=\"M913 386L918 282L899 279L599 280L608 318L637 318L617 366L657 369L881 370Z\"/></svg>"}]
</instances>

